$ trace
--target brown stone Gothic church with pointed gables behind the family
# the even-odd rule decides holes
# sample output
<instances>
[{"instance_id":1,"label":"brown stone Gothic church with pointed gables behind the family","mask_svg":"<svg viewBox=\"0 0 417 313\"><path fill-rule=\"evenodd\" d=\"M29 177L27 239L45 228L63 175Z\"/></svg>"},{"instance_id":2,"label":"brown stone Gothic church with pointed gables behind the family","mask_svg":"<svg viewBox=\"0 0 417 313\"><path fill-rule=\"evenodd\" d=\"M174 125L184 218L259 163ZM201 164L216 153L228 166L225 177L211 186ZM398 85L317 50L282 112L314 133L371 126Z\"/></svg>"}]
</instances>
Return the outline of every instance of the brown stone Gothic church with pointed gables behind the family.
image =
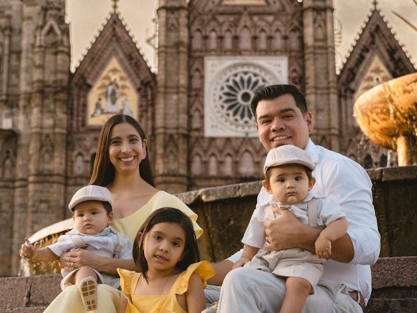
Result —
<instances>
[{"instance_id":1,"label":"brown stone Gothic church with pointed gables behind the family","mask_svg":"<svg viewBox=\"0 0 417 313\"><path fill-rule=\"evenodd\" d=\"M361 135L353 104L416 69L375 4L336 74L333 10L332 0L159 0L155 74L115 6L71 73L65 0L0 0L0 276L16 273L25 236L69 217L112 114L140 122L156 185L172 193L262 178L249 103L276 83L304 92L316 144L365 167L395 164Z\"/></svg>"}]
</instances>

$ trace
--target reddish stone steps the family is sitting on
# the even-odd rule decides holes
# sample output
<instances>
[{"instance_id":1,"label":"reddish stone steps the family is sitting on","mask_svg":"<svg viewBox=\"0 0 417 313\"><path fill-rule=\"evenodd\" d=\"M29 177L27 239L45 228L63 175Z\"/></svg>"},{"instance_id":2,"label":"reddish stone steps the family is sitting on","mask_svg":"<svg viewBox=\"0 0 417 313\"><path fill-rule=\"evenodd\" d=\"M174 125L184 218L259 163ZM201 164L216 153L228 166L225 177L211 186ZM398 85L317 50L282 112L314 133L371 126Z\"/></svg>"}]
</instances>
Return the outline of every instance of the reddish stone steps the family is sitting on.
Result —
<instances>
[{"instance_id":1,"label":"reddish stone steps the family is sitting on","mask_svg":"<svg viewBox=\"0 0 417 313\"><path fill-rule=\"evenodd\" d=\"M380 258L372 266L365 312L417 312L417 257ZM0 278L0 313L40 313L60 293L61 276Z\"/></svg>"}]
</instances>

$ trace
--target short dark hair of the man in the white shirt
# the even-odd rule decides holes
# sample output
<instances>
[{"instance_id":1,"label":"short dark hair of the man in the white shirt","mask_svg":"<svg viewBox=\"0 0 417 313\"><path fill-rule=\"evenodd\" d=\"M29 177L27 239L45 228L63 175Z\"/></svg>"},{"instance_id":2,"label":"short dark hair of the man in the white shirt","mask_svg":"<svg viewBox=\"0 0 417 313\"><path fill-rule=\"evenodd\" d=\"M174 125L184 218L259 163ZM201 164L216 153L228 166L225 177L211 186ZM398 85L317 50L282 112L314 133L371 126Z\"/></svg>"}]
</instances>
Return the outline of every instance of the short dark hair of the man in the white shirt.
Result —
<instances>
[{"instance_id":1,"label":"short dark hair of the man in the white shirt","mask_svg":"<svg viewBox=\"0 0 417 313\"><path fill-rule=\"evenodd\" d=\"M256 117L256 107L260 100L272 100L282 96L284 94L290 94L295 100L295 104L300 109L301 113L307 113L307 103L304 95L294 85L270 85L263 87L255 92L252 100L250 101L250 108L252 109L253 116Z\"/></svg>"}]
</instances>

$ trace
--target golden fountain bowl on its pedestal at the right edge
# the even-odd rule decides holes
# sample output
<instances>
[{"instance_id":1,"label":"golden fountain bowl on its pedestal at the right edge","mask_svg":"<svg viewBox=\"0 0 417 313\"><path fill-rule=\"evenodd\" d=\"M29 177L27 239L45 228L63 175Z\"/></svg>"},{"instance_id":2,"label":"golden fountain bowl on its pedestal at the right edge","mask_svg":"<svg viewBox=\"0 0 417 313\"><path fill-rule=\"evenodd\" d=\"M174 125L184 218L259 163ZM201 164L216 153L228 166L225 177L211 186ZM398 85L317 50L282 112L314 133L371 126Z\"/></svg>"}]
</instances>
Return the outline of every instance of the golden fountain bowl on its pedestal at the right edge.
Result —
<instances>
[{"instance_id":1,"label":"golden fountain bowl on its pedestal at the right edge","mask_svg":"<svg viewBox=\"0 0 417 313\"><path fill-rule=\"evenodd\" d=\"M371 141L397 151L399 166L417 163L417 73L366 91L353 109L359 127Z\"/></svg>"}]
</instances>

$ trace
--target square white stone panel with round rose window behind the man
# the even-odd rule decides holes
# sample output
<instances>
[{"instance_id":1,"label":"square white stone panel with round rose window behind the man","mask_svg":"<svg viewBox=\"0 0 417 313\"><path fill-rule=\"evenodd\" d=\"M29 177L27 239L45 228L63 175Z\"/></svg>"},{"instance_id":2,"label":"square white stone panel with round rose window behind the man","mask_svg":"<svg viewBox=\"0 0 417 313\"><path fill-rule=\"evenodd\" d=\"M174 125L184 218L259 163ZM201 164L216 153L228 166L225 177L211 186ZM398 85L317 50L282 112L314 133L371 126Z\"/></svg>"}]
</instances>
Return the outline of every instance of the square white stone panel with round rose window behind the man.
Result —
<instances>
[{"instance_id":1,"label":"square white stone panel with round rose window behind the man","mask_svg":"<svg viewBox=\"0 0 417 313\"><path fill-rule=\"evenodd\" d=\"M205 136L256 137L253 94L287 77L286 57L206 57Z\"/></svg>"}]
</instances>

